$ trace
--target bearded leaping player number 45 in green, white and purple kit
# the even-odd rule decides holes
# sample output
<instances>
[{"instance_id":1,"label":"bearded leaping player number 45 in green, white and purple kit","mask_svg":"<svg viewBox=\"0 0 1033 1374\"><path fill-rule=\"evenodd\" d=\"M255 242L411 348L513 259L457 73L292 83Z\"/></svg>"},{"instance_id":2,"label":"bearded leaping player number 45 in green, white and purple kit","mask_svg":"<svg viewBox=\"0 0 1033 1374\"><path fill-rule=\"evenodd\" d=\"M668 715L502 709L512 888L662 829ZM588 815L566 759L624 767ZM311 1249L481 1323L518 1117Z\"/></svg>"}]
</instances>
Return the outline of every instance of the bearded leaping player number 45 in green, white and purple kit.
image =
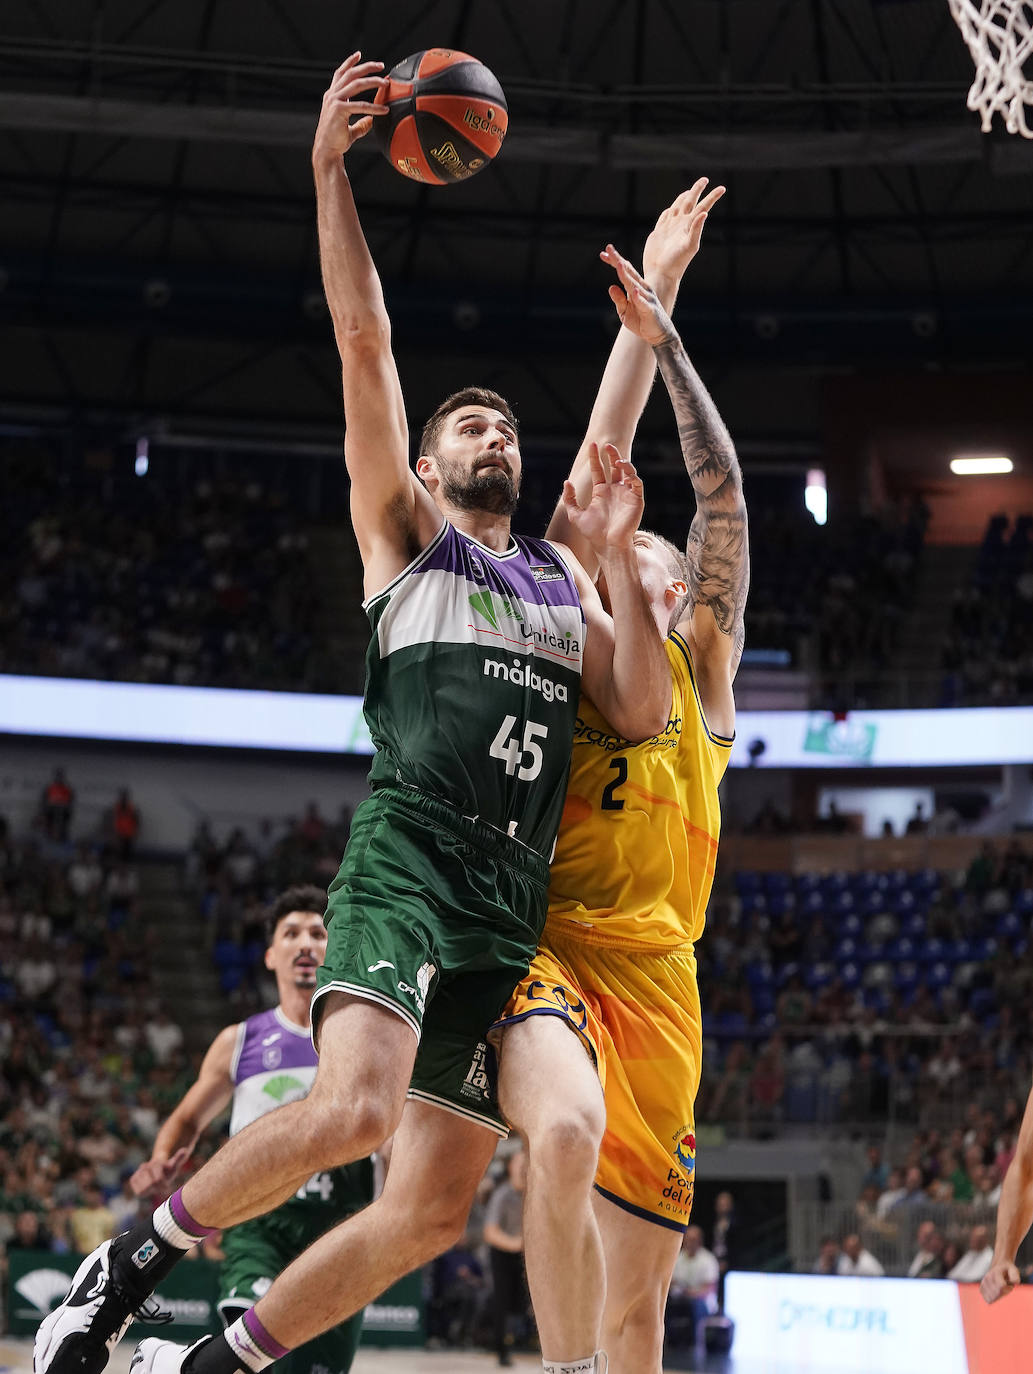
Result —
<instances>
[{"instance_id":1,"label":"bearded leaping player number 45 in green, white and purple kit","mask_svg":"<svg viewBox=\"0 0 1033 1374\"><path fill-rule=\"evenodd\" d=\"M133 1309L191 1245L391 1134L375 1204L309 1246L223 1337L185 1355L144 1341L139 1374L258 1374L462 1234L504 1129L484 1037L544 922L576 684L629 739L668 720L668 660L633 547L642 484L620 453L606 455L609 467L592 453L587 506L565 488L613 616L570 550L511 536L521 452L501 397L445 401L409 469L390 322L342 157L381 113L363 96L381 70L360 54L342 63L313 147L374 631L365 712L379 750L331 885L313 1009L319 1072L306 1098L251 1123L150 1221L87 1257L40 1327L37 1374L99 1374Z\"/></svg>"}]
</instances>

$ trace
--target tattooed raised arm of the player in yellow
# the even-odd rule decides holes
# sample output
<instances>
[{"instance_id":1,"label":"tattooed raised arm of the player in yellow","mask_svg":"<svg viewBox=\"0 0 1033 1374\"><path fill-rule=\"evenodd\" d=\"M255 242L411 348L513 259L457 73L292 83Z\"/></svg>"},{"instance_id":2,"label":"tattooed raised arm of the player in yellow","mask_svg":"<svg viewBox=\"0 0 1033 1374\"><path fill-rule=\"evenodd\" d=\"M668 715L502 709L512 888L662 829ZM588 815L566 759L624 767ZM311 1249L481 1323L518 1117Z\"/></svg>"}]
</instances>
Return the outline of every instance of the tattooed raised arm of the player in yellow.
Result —
<instances>
[{"instance_id":1,"label":"tattooed raised arm of the player in yellow","mask_svg":"<svg viewBox=\"0 0 1033 1374\"><path fill-rule=\"evenodd\" d=\"M750 587L742 470L731 434L657 293L620 254L613 261L621 280L621 286L610 287L617 312L625 327L652 346L674 407L681 455L696 497L685 547L690 600L679 628L690 638L698 660L705 660L713 694L720 698L720 680L731 688L742 658ZM731 709L731 691L725 695L727 702L716 703L723 716L725 706Z\"/></svg>"}]
</instances>

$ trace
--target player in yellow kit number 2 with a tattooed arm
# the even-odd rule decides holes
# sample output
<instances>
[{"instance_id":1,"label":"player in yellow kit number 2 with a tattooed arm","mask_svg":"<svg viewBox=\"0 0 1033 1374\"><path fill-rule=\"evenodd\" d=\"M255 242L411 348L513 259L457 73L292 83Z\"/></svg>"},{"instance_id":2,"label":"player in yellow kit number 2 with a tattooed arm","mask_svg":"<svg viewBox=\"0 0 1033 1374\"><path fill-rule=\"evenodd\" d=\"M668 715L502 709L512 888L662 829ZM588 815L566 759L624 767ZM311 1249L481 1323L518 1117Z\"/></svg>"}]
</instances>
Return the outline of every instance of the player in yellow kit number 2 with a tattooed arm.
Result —
<instances>
[{"instance_id":1,"label":"player in yellow kit number 2 with a tattooed arm","mask_svg":"<svg viewBox=\"0 0 1033 1374\"><path fill-rule=\"evenodd\" d=\"M655 357L696 503L684 554L655 534L636 539L666 640L670 719L632 745L581 698L544 937L497 1028L500 1101L529 1149L532 1298L543 1352L554 1352L547 1369L562 1371L595 1369L584 1352L602 1345L610 1374L658 1374L692 1205L695 941L714 874L749 587L735 449L668 313L721 195L701 199L703 187L650 235L652 286L613 247L603 254L620 278L610 294L624 330L589 425L628 451ZM571 473L581 499L585 467L582 453ZM560 523L558 511L551 536L563 537Z\"/></svg>"}]
</instances>

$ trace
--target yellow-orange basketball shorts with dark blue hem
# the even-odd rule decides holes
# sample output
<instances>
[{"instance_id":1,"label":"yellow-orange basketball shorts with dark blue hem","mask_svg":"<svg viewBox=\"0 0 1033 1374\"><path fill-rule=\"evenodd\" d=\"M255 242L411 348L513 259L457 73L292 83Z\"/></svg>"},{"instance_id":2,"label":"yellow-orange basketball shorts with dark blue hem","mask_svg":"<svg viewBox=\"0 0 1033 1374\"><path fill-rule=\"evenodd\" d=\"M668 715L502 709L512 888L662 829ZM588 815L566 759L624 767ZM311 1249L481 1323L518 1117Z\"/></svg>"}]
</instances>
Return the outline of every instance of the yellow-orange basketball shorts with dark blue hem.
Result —
<instances>
[{"instance_id":1,"label":"yellow-orange basketball shorts with dark blue hem","mask_svg":"<svg viewBox=\"0 0 1033 1374\"><path fill-rule=\"evenodd\" d=\"M534 1015L562 1017L599 1070L606 1098L599 1193L633 1216L684 1231L702 1062L692 949L593 944L547 926L493 1033Z\"/></svg>"}]
</instances>

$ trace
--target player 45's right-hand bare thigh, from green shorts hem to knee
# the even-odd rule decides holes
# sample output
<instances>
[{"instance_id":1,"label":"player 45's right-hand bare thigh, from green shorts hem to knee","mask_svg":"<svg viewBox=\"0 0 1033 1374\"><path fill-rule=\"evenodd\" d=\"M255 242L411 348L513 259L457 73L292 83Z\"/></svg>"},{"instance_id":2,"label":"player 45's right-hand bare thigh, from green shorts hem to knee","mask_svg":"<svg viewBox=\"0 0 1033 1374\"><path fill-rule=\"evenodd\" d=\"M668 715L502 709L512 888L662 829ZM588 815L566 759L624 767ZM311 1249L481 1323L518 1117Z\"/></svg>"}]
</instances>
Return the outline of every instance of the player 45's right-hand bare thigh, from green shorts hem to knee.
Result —
<instances>
[{"instance_id":1,"label":"player 45's right-hand bare thigh, from green shorts hem to knee","mask_svg":"<svg viewBox=\"0 0 1033 1374\"><path fill-rule=\"evenodd\" d=\"M407 1231L434 1232L441 1249L462 1237L477 1184L499 1135L444 1106L411 1098L391 1142L383 1193L375 1204Z\"/></svg>"}]
</instances>

